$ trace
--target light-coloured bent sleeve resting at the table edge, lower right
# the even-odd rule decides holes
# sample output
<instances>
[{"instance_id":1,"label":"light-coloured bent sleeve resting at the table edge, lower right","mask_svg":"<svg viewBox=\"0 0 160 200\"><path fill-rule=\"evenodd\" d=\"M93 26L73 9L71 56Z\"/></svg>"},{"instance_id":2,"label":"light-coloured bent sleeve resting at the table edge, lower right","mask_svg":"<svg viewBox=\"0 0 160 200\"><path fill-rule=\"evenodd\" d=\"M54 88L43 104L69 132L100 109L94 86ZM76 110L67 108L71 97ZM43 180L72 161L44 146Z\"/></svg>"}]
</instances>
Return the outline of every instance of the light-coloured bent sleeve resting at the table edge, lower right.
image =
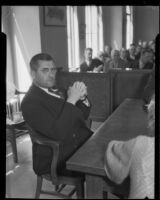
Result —
<instances>
[{"instance_id":1,"label":"light-coloured bent sleeve resting at the table edge, lower right","mask_svg":"<svg viewBox=\"0 0 160 200\"><path fill-rule=\"evenodd\" d=\"M104 158L104 169L107 177L120 184L128 176L135 139L127 142L111 141Z\"/></svg>"}]
</instances>

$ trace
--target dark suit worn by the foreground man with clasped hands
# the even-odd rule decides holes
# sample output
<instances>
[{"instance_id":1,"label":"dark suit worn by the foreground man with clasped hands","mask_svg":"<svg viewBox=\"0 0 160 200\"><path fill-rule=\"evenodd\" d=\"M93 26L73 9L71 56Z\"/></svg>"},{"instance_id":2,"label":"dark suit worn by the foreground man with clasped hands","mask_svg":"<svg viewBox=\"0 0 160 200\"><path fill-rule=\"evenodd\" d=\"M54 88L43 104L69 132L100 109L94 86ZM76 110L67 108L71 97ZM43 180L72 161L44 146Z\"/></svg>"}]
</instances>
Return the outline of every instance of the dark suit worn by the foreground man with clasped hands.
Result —
<instances>
[{"instance_id":1,"label":"dark suit worn by the foreground man with clasped hands","mask_svg":"<svg viewBox=\"0 0 160 200\"><path fill-rule=\"evenodd\" d=\"M63 161L68 159L92 135L92 131L85 124L90 107L81 101L74 106L66 102L66 97L64 99L54 97L32 84L21 107L24 120L40 136L62 142L61 158ZM35 173L50 173L51 149L38 144L33 144L32 148Z\"/></svg>"}]
</instances>

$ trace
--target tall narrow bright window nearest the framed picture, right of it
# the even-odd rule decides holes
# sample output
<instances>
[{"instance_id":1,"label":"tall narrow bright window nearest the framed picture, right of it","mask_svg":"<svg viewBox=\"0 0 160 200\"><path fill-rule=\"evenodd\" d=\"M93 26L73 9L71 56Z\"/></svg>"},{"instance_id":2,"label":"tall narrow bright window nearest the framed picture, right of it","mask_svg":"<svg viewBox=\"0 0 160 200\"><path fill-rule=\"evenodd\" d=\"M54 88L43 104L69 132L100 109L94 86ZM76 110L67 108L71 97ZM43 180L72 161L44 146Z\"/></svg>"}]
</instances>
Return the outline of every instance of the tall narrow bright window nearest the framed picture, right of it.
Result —
<instances>
[{"instance_id":1,"label":"tall narrow bright window nearest the framed picture, right of it","mask_svg":"<svg viewBox=\"0 0 160 200\"><path fill-rule=\"evenodd\" d=\"M67 6L68 68L77 71L79 68L79 29L77 6Z\"/></svg>"}]
</instances>

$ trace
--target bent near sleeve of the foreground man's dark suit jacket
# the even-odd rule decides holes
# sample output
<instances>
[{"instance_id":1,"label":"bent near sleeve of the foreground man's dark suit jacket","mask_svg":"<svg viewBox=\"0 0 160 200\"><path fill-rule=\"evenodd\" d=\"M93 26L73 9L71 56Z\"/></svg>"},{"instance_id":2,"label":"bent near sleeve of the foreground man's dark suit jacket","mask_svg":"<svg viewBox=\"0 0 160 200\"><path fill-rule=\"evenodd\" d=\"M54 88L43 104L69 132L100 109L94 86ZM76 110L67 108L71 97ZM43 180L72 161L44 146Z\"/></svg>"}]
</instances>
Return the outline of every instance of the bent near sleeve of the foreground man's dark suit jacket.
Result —
<instances>
[{"instance_id":1,"label":"bent near sleeve of the foreground man's dark suit jacket","mask_svg":"<svg viewBox=\"0 0 160 200\"><path fill-rule=\"evenodd\" d=\"M59 107L57 115L53 108L45 107L32 98L22 103L22 112L26 122L36 131L54 140L65 141L77 125L83 123L84 117L80 109L68 102L62 102Z\"/></svg>"}]
</instances>

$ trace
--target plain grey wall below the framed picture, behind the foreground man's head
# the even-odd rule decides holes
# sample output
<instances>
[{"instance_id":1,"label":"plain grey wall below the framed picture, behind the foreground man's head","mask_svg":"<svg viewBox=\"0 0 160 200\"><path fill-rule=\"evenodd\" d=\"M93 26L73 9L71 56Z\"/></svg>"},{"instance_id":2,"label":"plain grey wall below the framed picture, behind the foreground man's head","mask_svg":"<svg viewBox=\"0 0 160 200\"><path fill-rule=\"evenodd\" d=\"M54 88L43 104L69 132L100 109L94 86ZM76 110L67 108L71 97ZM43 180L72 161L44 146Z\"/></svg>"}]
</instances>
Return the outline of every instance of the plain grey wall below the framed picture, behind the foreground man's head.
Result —
<instances>
[{"instance_id":1,"label":"plain grey wall below the framed picture, behind the foreground man's head","mask_svg":"<svg viewBox=\"0 0 160 200\"><path fill-rule=\"evenodd\" d=\"M57 67L68 70L67 25L47 26L44 24L44 7L40 6L42 52L50 54Z\"/></svg>"}]
</instances>

